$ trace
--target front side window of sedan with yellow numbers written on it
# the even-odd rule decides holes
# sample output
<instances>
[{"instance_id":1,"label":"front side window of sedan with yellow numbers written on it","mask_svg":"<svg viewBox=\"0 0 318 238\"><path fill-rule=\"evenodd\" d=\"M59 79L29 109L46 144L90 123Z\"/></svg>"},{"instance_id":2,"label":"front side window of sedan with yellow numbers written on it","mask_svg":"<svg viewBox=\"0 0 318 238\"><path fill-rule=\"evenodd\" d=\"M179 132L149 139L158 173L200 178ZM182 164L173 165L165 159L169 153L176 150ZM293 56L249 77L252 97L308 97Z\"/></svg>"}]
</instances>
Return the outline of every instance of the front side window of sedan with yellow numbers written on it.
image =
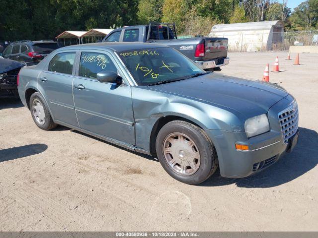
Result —
<instances>
[{"instance_id":1,"label":"front side window of sedan with yellow numbers written on it","mask_svg":"<svg viewBox=\"0 0 318 238\"><path fill-rule=\"evenodd\" d=\"M79 62L79 76L96 79L96 75L100 71L117 72L117 68L113 61L105 54L82 52Z\"/></svg>"}]
</instances>

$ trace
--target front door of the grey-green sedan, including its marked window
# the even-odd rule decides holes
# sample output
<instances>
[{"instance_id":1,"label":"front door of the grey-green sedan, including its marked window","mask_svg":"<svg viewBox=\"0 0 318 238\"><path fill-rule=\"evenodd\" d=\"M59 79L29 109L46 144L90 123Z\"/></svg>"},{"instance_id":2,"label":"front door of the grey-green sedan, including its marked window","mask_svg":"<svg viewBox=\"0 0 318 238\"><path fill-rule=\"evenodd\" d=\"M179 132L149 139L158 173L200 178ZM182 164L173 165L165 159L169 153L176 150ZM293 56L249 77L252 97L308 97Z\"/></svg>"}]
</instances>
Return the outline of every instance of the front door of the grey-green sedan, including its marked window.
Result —
<instances>
[{"instance_id":1,"label":"front door of the grey-green sedan, including its marked window","mask_svg":"<svg viewBox=\"0 0 318 238\"><path fill-rule=\"evenodd\" d=\"M118 67L107 52L81 52L78 76L73 82L74 104L79 126L97 135L135 144L131 88L125 83L101 83L100 71Z\"/></svg>"}]
</instances>

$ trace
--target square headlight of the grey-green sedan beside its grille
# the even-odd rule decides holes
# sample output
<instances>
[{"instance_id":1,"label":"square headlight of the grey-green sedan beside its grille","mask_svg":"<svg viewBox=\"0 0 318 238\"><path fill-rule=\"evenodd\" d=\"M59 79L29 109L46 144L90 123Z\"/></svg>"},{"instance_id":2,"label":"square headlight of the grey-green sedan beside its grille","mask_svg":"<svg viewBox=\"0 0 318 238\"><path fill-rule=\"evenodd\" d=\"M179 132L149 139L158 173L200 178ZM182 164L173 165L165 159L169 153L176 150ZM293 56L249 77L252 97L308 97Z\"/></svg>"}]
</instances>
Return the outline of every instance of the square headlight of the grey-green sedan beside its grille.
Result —
<instances>
[{"instance_id":1,"label":"square headlight of the grey-green sedan beside its grille","mask_svg":"<svg viewBox=\"0 0 318 238\"><path fill-rule=\"evenodd\" d=\"M269 131L266 114L247 119L244 126L248 138Z\"/></svg>"}]
</instances>

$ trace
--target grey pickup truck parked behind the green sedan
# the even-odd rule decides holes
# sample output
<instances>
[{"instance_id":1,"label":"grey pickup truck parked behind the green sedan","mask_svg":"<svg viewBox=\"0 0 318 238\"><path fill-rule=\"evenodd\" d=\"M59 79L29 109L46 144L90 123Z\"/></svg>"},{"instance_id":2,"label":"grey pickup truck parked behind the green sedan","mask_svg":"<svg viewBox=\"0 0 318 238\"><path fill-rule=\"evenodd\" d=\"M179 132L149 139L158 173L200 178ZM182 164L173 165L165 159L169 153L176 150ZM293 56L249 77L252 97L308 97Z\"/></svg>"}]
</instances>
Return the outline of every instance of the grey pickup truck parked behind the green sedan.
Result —
<instances>
[{"instance_id":1,"label":"grey pickup truck parked behind the green sedan","mask_svg":"<svg viewBox=\"0 0 318 238\"><path fill-rule=\"evenodd\" d=\"M149 29L151 29L149 31ZM118 28L110 32L103 42L151 42L170 46L208 71L220 70L229 64L228 38L194 37L177 39L174 24L150 23Z\"/></svg>"}]
</instances>

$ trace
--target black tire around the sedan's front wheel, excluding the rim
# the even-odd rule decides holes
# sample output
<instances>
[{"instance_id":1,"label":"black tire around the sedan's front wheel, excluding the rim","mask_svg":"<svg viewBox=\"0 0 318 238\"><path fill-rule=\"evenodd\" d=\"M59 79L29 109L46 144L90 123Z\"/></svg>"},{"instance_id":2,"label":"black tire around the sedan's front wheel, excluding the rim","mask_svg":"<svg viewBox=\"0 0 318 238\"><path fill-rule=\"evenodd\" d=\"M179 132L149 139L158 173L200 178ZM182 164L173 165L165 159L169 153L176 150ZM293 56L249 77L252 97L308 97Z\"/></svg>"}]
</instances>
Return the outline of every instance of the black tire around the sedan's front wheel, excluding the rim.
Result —
<instances>
[{"instance_id":1,"label":"black tire around the sedan's front wheel, excluding the rim","mask_svg":"<svg viewBox=\"0 0 318 238\"><path fill-rule=\"evenodd\" d=\"M182 133L196 144L200 154L200 165L192 175L181 175L173 170L165 159L163 146L165 139L173 133ZM208 179L218 168L218 158L211 139L203 129L187 121L174 120L165 124L156 139L158 160L163 169L174 179L187 184L199 184Z\"/></svg>"}]
</instances>

